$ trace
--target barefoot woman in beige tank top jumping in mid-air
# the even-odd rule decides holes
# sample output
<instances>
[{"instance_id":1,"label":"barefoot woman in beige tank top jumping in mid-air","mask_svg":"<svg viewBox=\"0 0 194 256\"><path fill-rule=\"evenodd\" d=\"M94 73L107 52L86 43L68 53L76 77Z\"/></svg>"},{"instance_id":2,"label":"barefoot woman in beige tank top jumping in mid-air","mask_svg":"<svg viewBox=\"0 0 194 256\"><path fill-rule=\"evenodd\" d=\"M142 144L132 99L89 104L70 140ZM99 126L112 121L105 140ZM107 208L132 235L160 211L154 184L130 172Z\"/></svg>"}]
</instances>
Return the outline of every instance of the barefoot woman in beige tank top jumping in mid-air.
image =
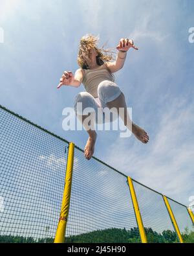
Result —
<instances>
[{"instance_id":1,"label":"barefoot woman in beige tank top jumping in mid-air","mask_svg":"<svg viewBox=\"0 0 194 256\"><path fill-rule=\"evenodd\" d=\"M89 126L83 122L90 116L90 113L89 115L83 115L83 112L80 113L79 108L77 108L78 102L82 104L82 110L90 107L93 108L96 113L98 108L101 108L102 111L105 107L108 107L110 110L111 108L116 108L118 115L121 117L122 121L124 121L124 125L131 130L135 137L142 141L142 143L149 141L147 132L137 126L129 118L124 93L122 93L114 82L113 75L113 73L122 69L124 66L127 51L130 48L136 50L138 50L138 48L134 45L133 40L122 38L116 47L118 50L116 61L110 62L110 60L113 60L113 57L103 54L102 51L104 50L96 46L97 42L98 38L91 34L87 34L81 38L78 53L78 65L81 68L76 70L74 76L72 72L64 71L58 85L58 88L63 85L78 87L82 83L85 87L85 91L76 95L74 110L76 117L82 122L85 130L87 130L89 134L89 139L84 149L85 158L88 160L91 159L94 154L97 134L94 129L89 128ZM119 108L124 108L124 111L119 111ZM103 119L103 122L105 121L106 120ZM109 122L113 121L113 118L109 119Z\"/></svg>"}]
</instances>

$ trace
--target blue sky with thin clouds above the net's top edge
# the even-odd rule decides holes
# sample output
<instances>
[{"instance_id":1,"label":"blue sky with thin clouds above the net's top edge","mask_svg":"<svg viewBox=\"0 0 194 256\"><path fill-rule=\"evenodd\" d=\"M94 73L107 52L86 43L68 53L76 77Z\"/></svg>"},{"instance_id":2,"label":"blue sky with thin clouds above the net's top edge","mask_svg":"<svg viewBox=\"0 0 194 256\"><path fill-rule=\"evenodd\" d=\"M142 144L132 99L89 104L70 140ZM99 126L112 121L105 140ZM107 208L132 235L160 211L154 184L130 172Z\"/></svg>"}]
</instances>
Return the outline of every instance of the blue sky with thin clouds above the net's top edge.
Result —
<instances>
[{"instance_id":1,"label":"blue sky with thin clouds above the net's top edge","mask_svg":"<svg viewBox=\"0 0 194 256\"><path fill-rule=\"evenodd\" d=\"M193 1L2 1L0 104L84 148L87 132L62 129L63 108L84 91L62 87L64 70L78 69L81 36L99 46L133 38L123 69L114 74L133 121L150 141L99 131L94 156L135 180L188 205L193 189ZM115 49L116 52L116 49Z\"/></svg>"}]
</instances>

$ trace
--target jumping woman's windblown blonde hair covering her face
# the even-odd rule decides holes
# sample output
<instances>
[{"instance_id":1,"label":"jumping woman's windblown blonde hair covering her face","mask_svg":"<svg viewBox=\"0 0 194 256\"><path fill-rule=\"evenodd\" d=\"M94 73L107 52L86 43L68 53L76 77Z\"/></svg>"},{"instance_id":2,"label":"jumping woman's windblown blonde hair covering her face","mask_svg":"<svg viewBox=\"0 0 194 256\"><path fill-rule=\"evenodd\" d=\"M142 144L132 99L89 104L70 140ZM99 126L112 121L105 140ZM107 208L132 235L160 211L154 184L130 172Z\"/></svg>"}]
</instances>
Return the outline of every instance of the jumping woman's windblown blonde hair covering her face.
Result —
<instances>
[{"instance_id":1,"label":"jumping woman's windblown blonde hair covering her face","mask_svg":"<svg viewBox=\"0 0 194 256\"><path fill-rule=\"evenodd\" d=\"M92 34L86 34L85 36L82 36L80 40L80 46L79 46L79 52L78 52L78 65L81 67L81 69L89 69L87 62L83 58L83 53L85 52L87 54L87 52L89 52L89 49L91 48L94 48L95 51L98 52L98 56L96 56L96 62L98 65L103 65L105 62L109 62L110 60L115 60L112 54L112 53L115 54L115 52L109 51L112 48L103 49L105 44L102 46L102 48L98 48L96 45L98 41L99 41L99 37L93 36ZM110 52L111 56L107 55L107 52ZM111 73L111 76L113 77L113 80L114 80L113 73Z\"/></svg>"}]
</instances>

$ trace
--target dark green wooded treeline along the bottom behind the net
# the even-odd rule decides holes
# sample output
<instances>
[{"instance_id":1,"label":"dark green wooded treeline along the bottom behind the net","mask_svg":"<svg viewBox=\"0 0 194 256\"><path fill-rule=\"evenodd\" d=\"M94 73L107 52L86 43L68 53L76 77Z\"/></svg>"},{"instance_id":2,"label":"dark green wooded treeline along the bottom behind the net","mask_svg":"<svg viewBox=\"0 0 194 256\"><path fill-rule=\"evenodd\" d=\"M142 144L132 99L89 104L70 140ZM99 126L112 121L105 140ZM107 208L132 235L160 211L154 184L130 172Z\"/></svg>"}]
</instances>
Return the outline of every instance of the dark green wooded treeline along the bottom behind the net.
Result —
<instances>
[{"instance_id":1,"label":"dark green wooded treeline along the bottom behind the net","mask_svg":"<svg viewBox=\"0 0 194 256\"><path fill-rule=\"evenodd\" d=\"M153 229L145 228L147 241L149 243L177 243L177 234L175 231L164 230L162 233L157 233ZM184 242L194 242L194 231L189 231L188 228L182 233L182 239ZM32 237L20 237L12 235L0 235L0 243L52 243L54 238L34 239ZM104 229L84 233L81 235L73 235L66 237L65 242L109 242L109 243L140 243L140 235L137 227L133 227L130 230L124 229Z\"/></svg>"}]
</instances>

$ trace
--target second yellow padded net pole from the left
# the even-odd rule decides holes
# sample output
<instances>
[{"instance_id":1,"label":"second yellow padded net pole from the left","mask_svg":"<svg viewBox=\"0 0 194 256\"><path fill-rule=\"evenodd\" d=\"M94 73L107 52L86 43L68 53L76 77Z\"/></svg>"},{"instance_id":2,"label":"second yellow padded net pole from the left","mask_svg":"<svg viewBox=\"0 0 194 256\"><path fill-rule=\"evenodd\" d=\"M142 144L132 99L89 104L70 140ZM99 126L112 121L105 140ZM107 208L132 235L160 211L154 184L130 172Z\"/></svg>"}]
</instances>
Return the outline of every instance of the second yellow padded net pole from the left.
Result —
<instances>
[{"instance_id":1,"label":"second yellow padded net pole from the left","mask_svg":"<svg viewBox=\"0 0 194 256\"><path fill-rule=\"evenodd\" d=\"M136 193L135 193L135 189L133 186L133 181L131 180L130 177L127 177L128 183L129 183L129 191L131 192L131 199L133 202L133 208L135 211L135 216L136 216L136 222L138 224L138 228L140 231L140 237L142 239L142 243L147 243L147 237L146 237L146 232L144 230L144 224L142 222L142 216L140 213L140 208L138 205L138 200L136 198Z\"/></svg>"}]
</instances>

